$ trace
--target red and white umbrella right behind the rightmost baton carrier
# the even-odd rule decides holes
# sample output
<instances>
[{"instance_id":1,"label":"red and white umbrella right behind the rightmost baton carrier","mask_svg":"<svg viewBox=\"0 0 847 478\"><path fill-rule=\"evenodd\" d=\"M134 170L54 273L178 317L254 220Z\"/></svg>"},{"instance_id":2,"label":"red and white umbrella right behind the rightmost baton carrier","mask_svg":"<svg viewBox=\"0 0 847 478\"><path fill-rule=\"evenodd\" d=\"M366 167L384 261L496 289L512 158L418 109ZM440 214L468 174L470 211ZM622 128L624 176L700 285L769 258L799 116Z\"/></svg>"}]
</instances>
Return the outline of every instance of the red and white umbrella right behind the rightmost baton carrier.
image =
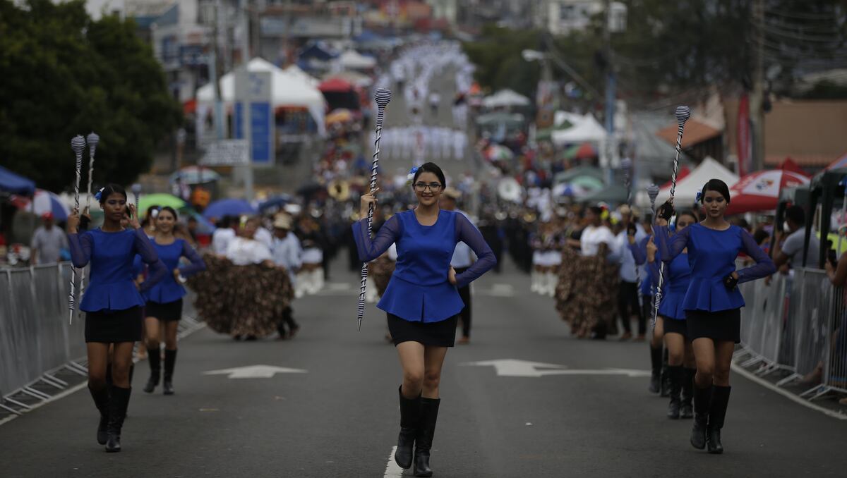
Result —
<instances>
[{"instance_id":1,"label":"red and white umbrella right behind the rightmost baton carrier","mask_svg":"<svg viewBox=\"0 0 847 478\"><path fill-rule=\"evenodd\" d=\"M809 178L805 174L783 169L750 173L730 188L732 201L729 201L726 213L772 211L777 208L779 191L800 184L809 184Z\"/></svg>"}]
</instances>

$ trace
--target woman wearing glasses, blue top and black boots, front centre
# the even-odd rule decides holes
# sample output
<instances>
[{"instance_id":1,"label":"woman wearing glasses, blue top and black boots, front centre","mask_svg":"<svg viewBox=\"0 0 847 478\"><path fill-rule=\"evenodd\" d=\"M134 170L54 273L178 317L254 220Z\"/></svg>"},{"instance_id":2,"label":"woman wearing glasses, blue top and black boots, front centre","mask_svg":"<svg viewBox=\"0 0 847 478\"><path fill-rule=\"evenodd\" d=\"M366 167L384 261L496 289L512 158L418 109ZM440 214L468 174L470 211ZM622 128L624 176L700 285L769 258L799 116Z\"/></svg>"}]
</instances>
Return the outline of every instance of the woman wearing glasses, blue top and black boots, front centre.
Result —
<instances>
[{"instance_id":1,"label":"woman wearing glasses, blue top and black boots, front centre","mask_svg":"<svg viewBox=\"0 0 847 478\"><path fill-rule=\"evenodd\" d=\"M425 162L410 174L418 206L392 216L371 239L368 207L376 206L377 200L368 193L360 207L365 219L352 227L362 261L373 261L396 244L396 268L377 305L388 312L388 327L403 369L394 459L401 468L411 467L413 461L415 476L432 476L429 453L440 405L441 367L447 348L455 343L457 316L464 307L457 288L490 270L496 259L467 217L440 209L439 198L446 187L441 168ZM450 261L460 241L479 260L457 274Z\"/></svg>"}]
</instances>

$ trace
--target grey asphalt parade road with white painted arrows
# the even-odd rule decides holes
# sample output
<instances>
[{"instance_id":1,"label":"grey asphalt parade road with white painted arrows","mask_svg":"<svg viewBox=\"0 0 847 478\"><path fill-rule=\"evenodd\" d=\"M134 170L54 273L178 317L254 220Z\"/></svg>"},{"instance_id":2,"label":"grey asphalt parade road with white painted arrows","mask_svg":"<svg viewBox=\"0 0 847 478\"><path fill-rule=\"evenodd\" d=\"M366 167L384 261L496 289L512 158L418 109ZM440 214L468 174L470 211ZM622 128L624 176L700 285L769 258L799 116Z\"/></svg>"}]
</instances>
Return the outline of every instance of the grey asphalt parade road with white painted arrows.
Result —
<instances>
[{"instance_id":1,"label":"grey asphalt parade road with white painted arrows","mask_svg":"<svg viewBox=\"0 0 847 478\"><path fill-rule=\"evenodd\" d=\"M335 266L334 283L356 283ZM623 372L647 370L645 343L569 337L552 299L529 294L510 264L474 287L495 284L515 295L475 294L472 342L447 354L436 476L839 476L847 465L844 420L735 374L727 452L691 448L690 420L667 420L667 401L647 392L647 378ZM386 457L400 367L373 305L357 332L356 291L298 299L302 332L292 341L191 335L180 343L173 397L141 392L139 362L122 453L97 445L86 390L0 426L2 475L397 476ZM540 374L498 374L495 365ZM596 373L608 370L618 372Z\"/></svg>"}]
</instances>

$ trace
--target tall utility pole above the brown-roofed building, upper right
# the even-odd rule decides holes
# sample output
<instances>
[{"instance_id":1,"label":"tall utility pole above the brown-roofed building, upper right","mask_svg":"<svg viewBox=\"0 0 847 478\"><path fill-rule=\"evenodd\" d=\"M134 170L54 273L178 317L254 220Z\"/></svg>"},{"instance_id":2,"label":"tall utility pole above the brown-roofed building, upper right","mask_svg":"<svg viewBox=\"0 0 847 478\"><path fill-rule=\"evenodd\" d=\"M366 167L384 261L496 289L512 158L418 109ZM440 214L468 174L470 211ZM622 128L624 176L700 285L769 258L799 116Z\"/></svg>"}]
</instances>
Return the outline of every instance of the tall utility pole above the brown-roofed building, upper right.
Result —
<instances>
[{"instance_id":1,"label":"tall utility pole above the brown-roofed building, upper right","mask_svg":"<svg viewBox=\"0 0 847 478\"><path fill-rule=\"evenodd\" d=\"M756 31L753 91L750 93L751 159L753 170L761 171L765 166L765 0L754 0L751 13Z\"/></svg>"}]
</instances>

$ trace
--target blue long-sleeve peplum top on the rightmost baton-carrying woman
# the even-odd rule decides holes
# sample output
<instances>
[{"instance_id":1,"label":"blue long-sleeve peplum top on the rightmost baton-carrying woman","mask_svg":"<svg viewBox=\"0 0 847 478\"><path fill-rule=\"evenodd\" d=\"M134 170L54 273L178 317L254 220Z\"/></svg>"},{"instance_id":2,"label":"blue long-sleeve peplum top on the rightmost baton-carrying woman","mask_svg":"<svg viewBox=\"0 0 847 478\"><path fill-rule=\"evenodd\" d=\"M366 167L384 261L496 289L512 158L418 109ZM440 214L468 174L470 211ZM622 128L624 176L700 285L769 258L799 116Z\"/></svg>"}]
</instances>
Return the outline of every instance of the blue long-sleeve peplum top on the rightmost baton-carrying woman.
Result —
<instances>
[{"instance_id":1,"label":"blue long-sleeve peplum top on the rightmost baton-carrying woman","mask_svg":"<svg viewBox=\"0 0 847 478\"><path fill-rule=\"evenodd\" d=\"M747 231L730 226L718 231L695 223L668 238L667 227L653 226L662 261L670 262L688 248L691 282L683 300L684 310L731 310L744 307L738 288L728 289L723 279L738 272L739 283L767 277L776 272L771 258ZM744 251L756 265L735 271L735 258Z\"/></svg>"}]
</instances>

